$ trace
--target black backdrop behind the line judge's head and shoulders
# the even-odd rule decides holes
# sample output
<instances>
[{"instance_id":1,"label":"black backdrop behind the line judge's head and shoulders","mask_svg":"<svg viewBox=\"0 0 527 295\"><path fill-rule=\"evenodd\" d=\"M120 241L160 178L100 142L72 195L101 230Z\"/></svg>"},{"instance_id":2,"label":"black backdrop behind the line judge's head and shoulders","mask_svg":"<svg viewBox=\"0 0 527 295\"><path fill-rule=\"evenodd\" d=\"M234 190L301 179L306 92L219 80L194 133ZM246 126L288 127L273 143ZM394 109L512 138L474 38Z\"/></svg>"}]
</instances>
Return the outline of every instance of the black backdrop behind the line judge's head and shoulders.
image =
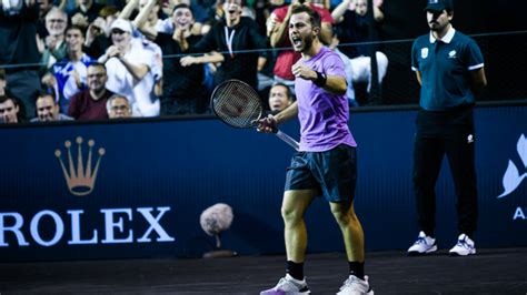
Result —
<instances>
[{"instance_id":1,"label":"black backdrop behind the line judge's head and shoulders","mask_svg":"<svg viewBox=\"0 0 527 295\"><path fill-rule=\"evenodd\" d=\"M380 27L380 50L388 55L388 72L382 84L382 104L417 103L419 87L410 70L411 43L429 32L426 0L385 0L385 21ZM471 35L481 48L488 87L479 101L525 100L527 88L526 1L454 1L453 26ZM516 33L511 33L516 32Z\"/></svg>"}]
</instances>

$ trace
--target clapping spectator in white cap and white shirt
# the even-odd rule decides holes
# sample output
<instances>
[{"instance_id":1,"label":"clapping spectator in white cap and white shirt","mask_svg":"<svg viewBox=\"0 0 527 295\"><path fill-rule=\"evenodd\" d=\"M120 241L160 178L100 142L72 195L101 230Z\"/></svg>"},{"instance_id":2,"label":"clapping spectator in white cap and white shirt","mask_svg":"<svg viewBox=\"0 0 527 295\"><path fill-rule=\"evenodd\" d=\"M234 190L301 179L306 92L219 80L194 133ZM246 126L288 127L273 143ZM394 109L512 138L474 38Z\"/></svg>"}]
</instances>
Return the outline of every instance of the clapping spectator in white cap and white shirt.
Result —
<instances>
[{"instance_id":1,"label":"clapping spectator in white cap and white shirt","mask_svg":"<svg viewBox=\"0 0 527 295\"><path fill-rule=\"evenodd\" d=\"M107 88L126 95L136 116L157 116L160 105L153 96L152 52L131 34L129 21L118 19L111 24L113 45L99 59L108 70Z\"/></svg>"}]
</instances>

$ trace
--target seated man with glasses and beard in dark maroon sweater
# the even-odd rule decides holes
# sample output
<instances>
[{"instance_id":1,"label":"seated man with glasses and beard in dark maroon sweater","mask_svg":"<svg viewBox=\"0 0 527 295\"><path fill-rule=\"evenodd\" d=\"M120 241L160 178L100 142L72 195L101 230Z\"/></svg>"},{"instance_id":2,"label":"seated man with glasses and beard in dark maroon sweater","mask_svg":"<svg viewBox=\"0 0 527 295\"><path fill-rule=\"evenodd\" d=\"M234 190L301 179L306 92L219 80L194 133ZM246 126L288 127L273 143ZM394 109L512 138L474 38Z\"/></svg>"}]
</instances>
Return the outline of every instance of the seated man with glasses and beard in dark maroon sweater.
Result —
<instances>
[{"instance_id":1,"label":"seated man with glasses and beard in dark maroon sweater","mask_svg":"<svg viewBox=\"0 0 527 295\"><path fill-rule=\"evenodd\" d=\"M108 119L106 102L113 92L106 89L108 80L103 64L95 62L88 67L88 89L71 98L68 115L76 120L103 120Z\"/></svg>"}]
</instances>

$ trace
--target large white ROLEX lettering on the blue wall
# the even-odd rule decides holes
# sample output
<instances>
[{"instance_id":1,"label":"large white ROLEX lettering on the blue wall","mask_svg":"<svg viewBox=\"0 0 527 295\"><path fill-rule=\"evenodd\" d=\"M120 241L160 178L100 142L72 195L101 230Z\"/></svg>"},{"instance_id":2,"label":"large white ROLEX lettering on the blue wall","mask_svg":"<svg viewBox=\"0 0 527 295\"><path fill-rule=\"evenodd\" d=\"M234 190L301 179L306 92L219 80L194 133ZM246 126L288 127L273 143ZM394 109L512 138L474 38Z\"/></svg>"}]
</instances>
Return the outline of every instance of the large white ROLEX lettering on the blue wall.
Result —
<instances>
[{"instance_id":1,"label":"large white ROLEX lettering on the blue wall","mask_svg":"<svg viewBox=\"0 0 527 295\"><path fill-rule=\"evenodd\" d=\"M167 215L166 213L170 210L169 206L101 208L100 212L103 215L103 221L101 221L100 224L105 227L89 228L88 231L82 231L81 217L84 218L84 223L87 224L92 225L99 223L95 223L96 220L93 216L89 217L88 215L82 215L84 214L84 210L68 210L66 213L43 210L37 212L29 224L24 222L24 216L18 212L0 212L0 247L29 246L30 243L28 243L24 236L24 231L29 232L38 245L46 247L53 246L62 238L67 238L64 236L64 222L71 224L71 236L67 241L68 245L133 243L133 231L136 230L137 232L137 228L135 228L137 225L132 223L135 211L148 223L148 228L136 241L137 243L151 243L152 241L173 242L176 238L166 231L162 223L163 216ZM67 221L68 215L70 221ZM105 223L103 225L102 222ZM27 228L28 225L29 228ZM43 228L42 225L44 225ZM143 227L140 226L140 228L142 230ZM9 235L9 232L12 235ZM99 240L99 232L103 235L103 240ZM152 235L155 236L153 238ZM16 241L11 241L14 240L13 237ZM100 238L102 238L102 236Z\"/></svg>"}]
</instances>

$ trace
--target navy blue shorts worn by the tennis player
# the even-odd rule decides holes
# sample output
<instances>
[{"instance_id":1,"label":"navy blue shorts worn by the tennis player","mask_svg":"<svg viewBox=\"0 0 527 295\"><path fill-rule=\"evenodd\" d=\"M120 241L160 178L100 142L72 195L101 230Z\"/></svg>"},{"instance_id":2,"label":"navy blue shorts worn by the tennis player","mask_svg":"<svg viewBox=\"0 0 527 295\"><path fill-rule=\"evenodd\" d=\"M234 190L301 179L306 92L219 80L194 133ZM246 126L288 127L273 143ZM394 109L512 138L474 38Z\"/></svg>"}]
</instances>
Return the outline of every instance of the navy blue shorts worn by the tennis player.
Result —
<instances>
[{"instance_id":1,"label":"navy blue shorts worn by the tennis player","mask_svg":"<svg viewBox=\"0 0 527 295\"><path fill-rule=\"evenodd\" d=\"M340 144L326 152L295 153L285 190L317 190L329 202L352 202L356 183L357 152Z\"/></svg>"}]
</instances>

